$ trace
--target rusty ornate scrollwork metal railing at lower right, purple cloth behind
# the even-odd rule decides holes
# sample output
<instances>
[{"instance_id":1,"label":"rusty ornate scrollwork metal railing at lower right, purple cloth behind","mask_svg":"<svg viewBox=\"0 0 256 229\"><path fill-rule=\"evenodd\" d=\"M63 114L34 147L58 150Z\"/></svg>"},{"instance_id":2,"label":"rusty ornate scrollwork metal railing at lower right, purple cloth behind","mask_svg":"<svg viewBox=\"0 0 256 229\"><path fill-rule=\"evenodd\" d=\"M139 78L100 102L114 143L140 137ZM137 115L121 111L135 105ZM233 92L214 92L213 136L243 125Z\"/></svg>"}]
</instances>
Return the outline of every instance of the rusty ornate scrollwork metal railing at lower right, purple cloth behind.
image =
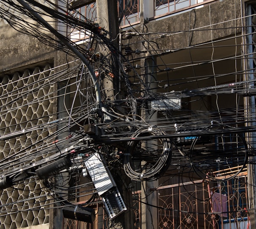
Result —
<instances>
[{"instance_id":1,"label":"rusty ornate scrollwork metal railing at lower right, purple cloth behind","mask_svg":"<svg viewBox=\"0 0 256 229\"><path fill-rule=\"evenodd\" d=\"M224 229L248 226L247 176L226 182L203 180L158 188L159 229Z\"/></svg>"}]
</instances>

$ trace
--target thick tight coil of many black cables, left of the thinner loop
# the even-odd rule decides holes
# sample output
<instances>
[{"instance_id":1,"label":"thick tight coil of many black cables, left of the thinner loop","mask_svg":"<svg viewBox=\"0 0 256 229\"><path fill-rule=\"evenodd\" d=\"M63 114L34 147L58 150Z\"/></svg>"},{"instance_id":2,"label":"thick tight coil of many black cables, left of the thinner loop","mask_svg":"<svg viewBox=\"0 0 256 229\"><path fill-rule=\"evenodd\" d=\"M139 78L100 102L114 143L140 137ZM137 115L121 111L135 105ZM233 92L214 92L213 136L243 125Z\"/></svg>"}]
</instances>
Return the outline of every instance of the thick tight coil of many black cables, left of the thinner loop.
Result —
<instances>
[{"instance_id":1,"label":"thick tight coil of many black cables, left of the thinner loop","mask_svg":"<svg viewBox=\"0 0 256 229\"><path fill-rule=\"evenodd\" d=\"M136 181L152 181L168 169L172 159L172 144L169 138L163 138L165 135L159 128L143 127L131 136L133 141L128 142L124 155L123 166L127 176ZM143 142L136 140L145 136L159 138ZM162 146L162 149L159 149L159 146Z\"/></svg>"}]
</instances>

